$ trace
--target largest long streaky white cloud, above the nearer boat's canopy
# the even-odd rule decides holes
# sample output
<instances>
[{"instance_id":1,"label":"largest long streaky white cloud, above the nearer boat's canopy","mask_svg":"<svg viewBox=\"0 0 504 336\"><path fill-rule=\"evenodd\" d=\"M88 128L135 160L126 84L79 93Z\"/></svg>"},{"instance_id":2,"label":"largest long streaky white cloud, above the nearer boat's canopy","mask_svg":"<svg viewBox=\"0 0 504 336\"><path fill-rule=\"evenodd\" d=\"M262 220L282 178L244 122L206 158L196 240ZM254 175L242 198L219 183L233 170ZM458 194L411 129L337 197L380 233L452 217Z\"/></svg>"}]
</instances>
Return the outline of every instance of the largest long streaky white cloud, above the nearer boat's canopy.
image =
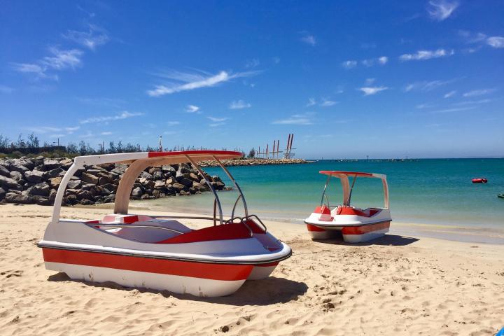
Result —
<instances>
[{"instance_id":1,"label":"largest long streaky white cloud, above the nearer boat's canopy","mask_svg":"<svg viewBox=\"0 0 504 336\"><path fill-rule=\"evenodd\" d=\"M250 77L258 74L259 71L247 71L238 73L228 73L221 71L216 75L204 71L194 73L183 73L181 71L165 71L158 73L158 76L169 80L174 80L176 83L169 83L166 85L155 85L153 90L148 90L147 94L151 97L160 97L165 94L172 94L175 92L195 90L200 87L213 87L221 83L228 82L233 78Z\"/></svg>"}]
</instances>

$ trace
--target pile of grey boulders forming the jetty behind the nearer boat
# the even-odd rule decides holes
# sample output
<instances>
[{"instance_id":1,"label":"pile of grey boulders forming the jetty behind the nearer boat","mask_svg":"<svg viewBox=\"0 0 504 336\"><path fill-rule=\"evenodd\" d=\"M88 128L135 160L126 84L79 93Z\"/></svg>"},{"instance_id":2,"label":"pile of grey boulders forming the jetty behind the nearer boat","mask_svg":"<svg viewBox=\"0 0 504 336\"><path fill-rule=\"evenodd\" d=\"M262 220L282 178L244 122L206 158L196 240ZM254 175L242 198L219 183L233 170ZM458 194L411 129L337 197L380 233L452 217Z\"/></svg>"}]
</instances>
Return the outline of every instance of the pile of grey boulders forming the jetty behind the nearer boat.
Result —
<instances>
[{"instance_id":1,"label":"pile of grey boulders forming the jetty behind the nearer boat","mask_svg":"<svg viewBox=\"0 0 504 336\"><path fill-rule=\"evenodd\" d=\"M52 205L69 158L20 158L0 160L0 202ZM63 204L101 204L114 202L124 164L106 164L79 169L66 187ZM216 190L227 189L218 176L209 176ZM165 165L148 167L134 183L132 200L174 195L192 195L210 188L194 167Z\"/></svg>"}]
</instances>

